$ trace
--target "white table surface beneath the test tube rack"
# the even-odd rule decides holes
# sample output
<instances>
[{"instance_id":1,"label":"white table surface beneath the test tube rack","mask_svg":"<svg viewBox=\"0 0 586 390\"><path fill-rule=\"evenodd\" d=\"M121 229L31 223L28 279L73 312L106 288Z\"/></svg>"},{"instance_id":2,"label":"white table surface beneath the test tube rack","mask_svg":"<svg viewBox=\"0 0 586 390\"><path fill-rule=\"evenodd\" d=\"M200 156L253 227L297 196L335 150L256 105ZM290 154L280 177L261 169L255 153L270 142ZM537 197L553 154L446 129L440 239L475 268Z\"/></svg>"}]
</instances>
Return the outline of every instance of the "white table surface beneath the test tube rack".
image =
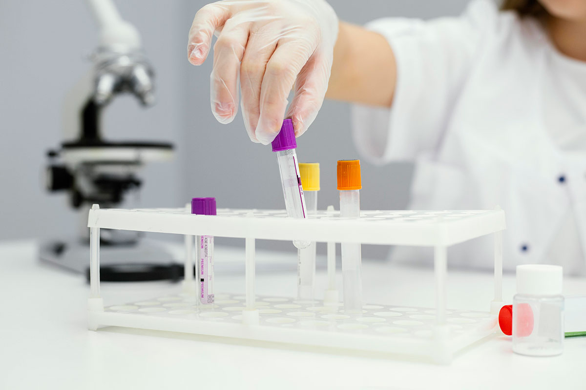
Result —
<instances>
[{"instance_id":1,"label":"white table surface beneath the test tube rack","mask_svg":"<svg viewBox=\"0 0 586 390\"><path fill-rule=\"evenodd\" d=\"M243 250L218 248L216 261L237 256L244 258ZM274 253L258 253L257 264L274 260ZM433 306L431 270L364 261L363 281L366 302ZM294 272L261 273L257 293L293 296L295 283ZM318 271L318 293L325 283ZM586 294L585 278L564 283L565 294ZM510 302L513 275L503 284ZM179 289L166 282L101 287L107 305ZM216 291L244 292L243 275L216 274ZM448 308L487 310L492 291L492 274L448 272ZM586 389L586 337L565 340L561 356L536 358L512 353L509 337L500 336L441 366L121 327L91 332L88 292L80 275L40 264L33 241L0 244L0 389Z\"/></svg>"}]
</instances>

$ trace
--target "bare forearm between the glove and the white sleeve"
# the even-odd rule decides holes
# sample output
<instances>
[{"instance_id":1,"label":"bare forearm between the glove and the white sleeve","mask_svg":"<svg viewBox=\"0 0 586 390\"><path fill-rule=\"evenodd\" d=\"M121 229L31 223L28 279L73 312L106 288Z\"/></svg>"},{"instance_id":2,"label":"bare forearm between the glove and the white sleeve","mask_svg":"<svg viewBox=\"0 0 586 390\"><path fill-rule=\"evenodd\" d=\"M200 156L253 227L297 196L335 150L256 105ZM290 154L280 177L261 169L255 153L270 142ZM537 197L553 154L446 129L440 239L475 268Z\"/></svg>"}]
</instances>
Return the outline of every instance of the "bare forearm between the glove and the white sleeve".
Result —
<instances>
[{"instance_id":1,"label":"bare forearm between the glove and the white sleeve","mask_svg":"<svg viewBox=\"0 0 586 390\"><path fill-rule=\"evenodd\" d=\"M363 27L340 22L326 98L390 107L397 65L387 40Z\"/></svg>"}]
</instances>

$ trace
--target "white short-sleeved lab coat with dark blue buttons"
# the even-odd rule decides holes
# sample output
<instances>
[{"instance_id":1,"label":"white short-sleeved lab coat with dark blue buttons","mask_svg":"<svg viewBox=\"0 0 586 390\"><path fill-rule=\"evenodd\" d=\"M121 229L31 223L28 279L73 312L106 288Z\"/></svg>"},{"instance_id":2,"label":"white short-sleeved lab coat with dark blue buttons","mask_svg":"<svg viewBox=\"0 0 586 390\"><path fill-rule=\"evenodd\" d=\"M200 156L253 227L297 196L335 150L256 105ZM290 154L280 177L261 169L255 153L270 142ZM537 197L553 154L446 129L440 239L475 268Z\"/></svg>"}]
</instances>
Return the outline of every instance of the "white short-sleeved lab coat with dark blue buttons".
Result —
<instances>
[{"instance_id":1,"label":"white short-sleeved lab coat with dark blue buttons","mask_svg":"<svg viewBox=\"0 0 586 390\"><path fill-rule=\"evenodd\" d=\"M393 49L397 87L390 110L353 108L363 156L415 161L411 209L500 205L505 268L584 274L586 64L558 53L536 20L487 0L460 18L368 27ZM391 257L430 261L431 251L397 247ZM492 239L452 247L448 264L492 267Z\"/></svg>"}]
</instances>

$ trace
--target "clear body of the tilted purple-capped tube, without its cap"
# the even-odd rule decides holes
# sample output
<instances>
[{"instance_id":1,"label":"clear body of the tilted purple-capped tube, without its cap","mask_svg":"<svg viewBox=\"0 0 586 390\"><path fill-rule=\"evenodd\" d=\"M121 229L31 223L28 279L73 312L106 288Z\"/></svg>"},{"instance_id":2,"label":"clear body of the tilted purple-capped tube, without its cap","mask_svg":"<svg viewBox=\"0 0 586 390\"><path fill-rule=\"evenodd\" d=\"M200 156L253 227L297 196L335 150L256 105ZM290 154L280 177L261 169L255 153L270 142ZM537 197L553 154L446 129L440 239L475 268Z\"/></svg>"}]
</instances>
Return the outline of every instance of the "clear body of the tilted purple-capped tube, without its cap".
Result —
<instances>
[{"instance_id":1,"label":"clear body of the tilted purple-capped tube, without its cap","mask_svg":"<svg viewBox=\"0 0 586 390\"><path fill-rule=\"evenodd\" d=\"M283 185L283 195L285 198L285 209L290 218L307 218L305 208L305 197L301 187L301 176L297 153L295 149L280 150L275 152L281 172L281 182ZM311 244L310 241L293 241L298 249L304 249Z\"/></svg>"}]
</instances>

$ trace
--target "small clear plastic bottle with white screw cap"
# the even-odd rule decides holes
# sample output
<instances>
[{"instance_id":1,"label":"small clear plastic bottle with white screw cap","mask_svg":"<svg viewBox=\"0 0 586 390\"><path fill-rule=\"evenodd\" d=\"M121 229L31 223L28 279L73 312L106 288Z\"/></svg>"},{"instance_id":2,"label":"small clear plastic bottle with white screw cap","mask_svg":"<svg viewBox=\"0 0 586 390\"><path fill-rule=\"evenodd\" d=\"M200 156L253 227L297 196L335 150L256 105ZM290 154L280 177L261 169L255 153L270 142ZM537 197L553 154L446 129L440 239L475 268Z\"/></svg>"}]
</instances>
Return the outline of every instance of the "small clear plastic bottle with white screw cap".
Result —
<instances>
[{"instance_id":1,"label":"small clear plastic bottle with white screw cap","mask_svg":"<svg viewBox=\"0 0 586 390\"><path fill-rule=\"evenodd\" d=\"M563 269L517 265L513 297L513 351L528 356L559 355L564 347Z\"/></svg>"}]
</instances>

